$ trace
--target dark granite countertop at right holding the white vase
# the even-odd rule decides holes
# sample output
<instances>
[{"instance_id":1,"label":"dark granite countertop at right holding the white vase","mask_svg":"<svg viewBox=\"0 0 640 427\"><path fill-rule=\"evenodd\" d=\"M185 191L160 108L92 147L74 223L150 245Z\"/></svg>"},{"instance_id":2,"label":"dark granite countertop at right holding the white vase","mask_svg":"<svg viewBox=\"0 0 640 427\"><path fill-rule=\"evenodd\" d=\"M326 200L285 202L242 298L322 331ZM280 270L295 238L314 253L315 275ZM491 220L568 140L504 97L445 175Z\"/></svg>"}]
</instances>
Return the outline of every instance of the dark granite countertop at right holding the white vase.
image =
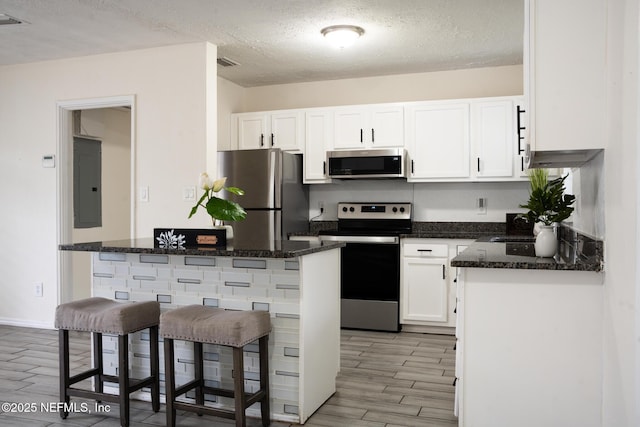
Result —
<instances>
[{"instance_id":1,"label":"dark granite countertop at right holding the white vase","mask_svg":"<svg viewBox=\"0 0 640 427\"><path fill-rule=\"evenodd\" d=\"M453 258L451 266L594 272L603 269L602 241L567 228L559 231L558 252L553 258L535 256L533 236L495 237L478 239Z\"/></svg>"}]
</instances>

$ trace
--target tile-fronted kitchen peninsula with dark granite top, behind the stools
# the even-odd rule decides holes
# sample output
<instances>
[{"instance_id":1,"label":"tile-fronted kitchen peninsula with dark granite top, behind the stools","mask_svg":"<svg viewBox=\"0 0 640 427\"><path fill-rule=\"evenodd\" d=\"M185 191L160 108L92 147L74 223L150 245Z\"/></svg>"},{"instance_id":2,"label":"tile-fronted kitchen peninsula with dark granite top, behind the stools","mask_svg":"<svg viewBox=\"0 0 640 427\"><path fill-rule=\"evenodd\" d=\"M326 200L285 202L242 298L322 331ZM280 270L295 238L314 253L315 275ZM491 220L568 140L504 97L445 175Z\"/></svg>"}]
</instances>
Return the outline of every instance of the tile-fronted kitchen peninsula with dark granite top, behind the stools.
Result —
<instances>
[{"instance_id":1,"label":"tile-fronted kitchen peninsula with dark granite top, behind the stools","mask_svg":"<svg viewBox=\"0 0 640 427\"><path fill-rule=\"evenodd\" d=\"M271 417L304 423L335 392L340 369L340 251L343 243L274 240L233 248L156 248L152 239L60 245L92 255L92 295L122 301L158 301L163 311L190 304L228 310L266 310L269 340ZM133 376L144 376L146 333L131 346ZM117 340L104 337L105 370L115 373ZM245 347L245 378L258 388L257 344ZM162 351L160 352L162 355ZM162 358L162 356L161 356ZM189 343L176 347L177 382L193 375ZM205 344L205 377L233 388L231 353ZM163 371L164 362L160 363ZM109 372L113 370L113 372ZM163 374L161 374L163 378ZM146 398L142 395L141 398ZM214 398L215 405L233 400ZM253 407L249 416L259 416Z\"/></svg>"}]
</instances>

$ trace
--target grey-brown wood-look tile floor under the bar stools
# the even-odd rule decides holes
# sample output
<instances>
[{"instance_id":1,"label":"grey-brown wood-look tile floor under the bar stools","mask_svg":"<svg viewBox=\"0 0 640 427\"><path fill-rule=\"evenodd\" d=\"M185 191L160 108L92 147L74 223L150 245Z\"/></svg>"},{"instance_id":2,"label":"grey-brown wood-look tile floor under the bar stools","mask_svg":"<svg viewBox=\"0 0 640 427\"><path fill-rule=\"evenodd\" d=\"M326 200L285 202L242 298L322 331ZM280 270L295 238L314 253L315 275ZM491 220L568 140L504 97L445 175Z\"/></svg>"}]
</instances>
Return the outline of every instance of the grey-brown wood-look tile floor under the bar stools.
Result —
<instances>
[{"instance_id":1,"label":"grey-brown wood-look tile floor under the bar stools","mask_svg":"<svg viewBox=\"0 0 640 427\"><path fill-rule=\"evenodd\" d=\"M336 393L305 426L398 427L455 426L453 416L454 337L415 333L342 331L341 372ZM73 333L71 369L88 367L88 334ZM3 427L118 426L117 405L110 412L72 413L60 419L58 401L58 334L45 329L0 326L0 403L35 404L35 411L0 410ZM73 400L72 400L73 401ZM82 402L82 399L76 401ZM94 408L90 402L89 408ZM16 405L17 406L17 405ZM13 409L16 409L15 407ZM178 413L178 426L233 426L231 420ZM164 426L149 402L132 401L131 426ZM260 425L249 419L249 427ZM298 424L273 422L273 427Z\"/></svg>"}]
</instances>

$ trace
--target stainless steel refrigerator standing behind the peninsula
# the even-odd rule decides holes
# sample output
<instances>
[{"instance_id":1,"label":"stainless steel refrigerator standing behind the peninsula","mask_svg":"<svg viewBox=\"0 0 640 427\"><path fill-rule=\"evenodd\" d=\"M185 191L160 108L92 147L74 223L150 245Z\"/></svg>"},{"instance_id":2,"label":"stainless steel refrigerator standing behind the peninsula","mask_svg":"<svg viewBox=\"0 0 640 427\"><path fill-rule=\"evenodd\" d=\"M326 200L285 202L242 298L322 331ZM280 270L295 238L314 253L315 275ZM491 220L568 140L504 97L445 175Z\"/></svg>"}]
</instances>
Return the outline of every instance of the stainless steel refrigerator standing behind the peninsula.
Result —
<instances>
[{"instance_id":1,"label":"stainless steel refrigerator standing behind the peninsula","mask_svg":"<svg viewBox=\"0 0 640 427\"><path fill-rule=\"evenodd\" d=\"M245 191L223 192L247 211L233 226L236 249L277 249L289 233L309 229L309 191L302 183L302 155L280 149L218 152L218 176ZM275 247L274 247L275 245Z\"/></svg>"}]
</instances>

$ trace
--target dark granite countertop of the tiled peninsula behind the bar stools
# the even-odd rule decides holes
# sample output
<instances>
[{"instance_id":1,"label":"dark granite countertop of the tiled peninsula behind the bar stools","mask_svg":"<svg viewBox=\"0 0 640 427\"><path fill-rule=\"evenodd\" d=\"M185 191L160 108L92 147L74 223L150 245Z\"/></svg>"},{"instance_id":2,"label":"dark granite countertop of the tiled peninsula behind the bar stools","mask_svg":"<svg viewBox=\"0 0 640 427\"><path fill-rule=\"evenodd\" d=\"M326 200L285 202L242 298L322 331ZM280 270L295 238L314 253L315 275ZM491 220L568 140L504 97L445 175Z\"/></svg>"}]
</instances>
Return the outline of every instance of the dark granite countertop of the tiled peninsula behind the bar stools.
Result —
<instances>
[{"instance_id":1,"label":"dark granite countertop of the tiled peninsula behind the bar stools","mask_svg":"<svg viewBox=\"0 0 640 427\"><path fill-rule=\"evenodd\" d=\"M155 248L153 238L112 240L105 242L71 243L59 246L62 251L83 252L120 252L137 254L168 254L168 255L200 255L200 256L225 256L238 258L296 258L315 252L322 252L343 247L343 242L306 242L290 240L274 240L269 247L235 248L205 247L193 248Z\"/></svg>"}]
</instances>

